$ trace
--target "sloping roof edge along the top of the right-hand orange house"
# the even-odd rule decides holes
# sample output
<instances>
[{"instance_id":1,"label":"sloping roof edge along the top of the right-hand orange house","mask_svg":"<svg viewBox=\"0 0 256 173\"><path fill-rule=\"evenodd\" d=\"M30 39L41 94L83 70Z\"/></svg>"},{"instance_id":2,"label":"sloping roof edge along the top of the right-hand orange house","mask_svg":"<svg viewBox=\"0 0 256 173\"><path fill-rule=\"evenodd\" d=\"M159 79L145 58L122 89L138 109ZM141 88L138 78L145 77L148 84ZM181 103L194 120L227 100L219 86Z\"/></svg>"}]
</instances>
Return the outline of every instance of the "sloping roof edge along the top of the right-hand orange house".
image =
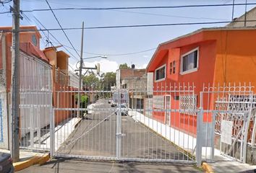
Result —
<instances>
[{"instance_id":1,"label":"sloping roof edge along the top of the right-hand orange house","mask_svg":"<svg viewBox=\"0 0 256 173\"><path fill-rule=\"evenodd\" d=\"M152 58L150 59L150 62L148 63L148 66L146 67L146 71L148 71L148 67L150 66L150 63L155 59L156 54L160 51L160 49L168 44L178 42L179 40L182 40L186 37L190 37L192 35L199 35L202 32L205 31L223 31L223 30L256 30L256 27L208 27L208 28L201 28L200 30L195 30L194 32L190 32L187 35L182 35L180 37L176 37L174 39L168 40L166 42L163 42L158 45L158 48L156 48L155 53L153 54ZM195 43L197 40L192 40Z\"/></svg>"}]
</instances>

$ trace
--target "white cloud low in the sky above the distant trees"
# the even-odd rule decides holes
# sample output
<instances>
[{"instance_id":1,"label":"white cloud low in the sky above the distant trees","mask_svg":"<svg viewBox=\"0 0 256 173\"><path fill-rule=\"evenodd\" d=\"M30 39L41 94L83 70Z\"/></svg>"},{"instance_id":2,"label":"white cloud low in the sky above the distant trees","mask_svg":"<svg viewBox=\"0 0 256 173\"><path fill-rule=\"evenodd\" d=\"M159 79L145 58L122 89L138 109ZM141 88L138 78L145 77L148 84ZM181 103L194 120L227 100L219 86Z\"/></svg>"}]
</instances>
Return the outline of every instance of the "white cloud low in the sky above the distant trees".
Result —
<instances>
[{"instance_id":1,"label":"white cloud low in the sky above the distant trees","mask_svg":"<svg viewBox=\"0 0 256 173\"><path fill-rule=\"evenodd\" d=\"M94 61L92 63L89 62L84 62L85 63L85 67L95 67L95 65L97 63L100 63L100 70L101 73L106 73L106 72L116 72L117 68L119 68L119 64L116 63L116 61L109 61L109 60L101 60L101 61ZM72 68L77 69L75 67L75 64L70 64L72 66ZM77 65L79 66L79 65ZM72 70L72 68L69 67L69 70ZM73 70L72 70L73 71Z\"/></svg>"}]
</instances>

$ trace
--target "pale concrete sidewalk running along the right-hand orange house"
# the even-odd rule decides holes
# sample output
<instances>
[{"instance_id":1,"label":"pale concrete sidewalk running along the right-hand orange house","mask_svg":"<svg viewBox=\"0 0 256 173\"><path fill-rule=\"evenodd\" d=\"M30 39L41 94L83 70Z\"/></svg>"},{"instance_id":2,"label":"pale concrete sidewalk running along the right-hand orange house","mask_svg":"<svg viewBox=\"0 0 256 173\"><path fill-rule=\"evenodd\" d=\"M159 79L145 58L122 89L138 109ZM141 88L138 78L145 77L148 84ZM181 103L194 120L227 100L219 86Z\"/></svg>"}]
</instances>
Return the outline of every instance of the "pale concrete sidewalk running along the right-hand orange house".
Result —
<instances>
[{"instance_id":1,"label":"pale concrete sidewalk running along the right-hand orange house","mask_svg":"<svg viewBox=\"0 0 256 173\"><path fill-rule=\"evenodd\" d=\"M189 151L192 151L192 148L195 148L196 138L192 136L188 136L187 134L182 133L179 130L176 130L174 128L171 128L168 126L166 127L166 125L164 125L163 123L159 123L158 121L153 120L150 117L146 117L140 112L129 111L128 115L131 116L135 120L135 122L140 122L148 126L148 128L151 128L156 133L160 134L164 138L167 138L169 141L175 143L177 146L180 146ZM256 169L256 165L252 166L249 164L242 164L239 161L233 161L231 159L228 159L225 156L222 156L218 149L215 149L214 152L215 152L214 161L210 163L208 162L208 165L212 167L213 172L225 172L225 173L226 172L248 172L249 173L249 172L254 172L254 169ZM204 153L205 152L202 151L202 155L204 155Z\"/></svg>"}]
</instances>

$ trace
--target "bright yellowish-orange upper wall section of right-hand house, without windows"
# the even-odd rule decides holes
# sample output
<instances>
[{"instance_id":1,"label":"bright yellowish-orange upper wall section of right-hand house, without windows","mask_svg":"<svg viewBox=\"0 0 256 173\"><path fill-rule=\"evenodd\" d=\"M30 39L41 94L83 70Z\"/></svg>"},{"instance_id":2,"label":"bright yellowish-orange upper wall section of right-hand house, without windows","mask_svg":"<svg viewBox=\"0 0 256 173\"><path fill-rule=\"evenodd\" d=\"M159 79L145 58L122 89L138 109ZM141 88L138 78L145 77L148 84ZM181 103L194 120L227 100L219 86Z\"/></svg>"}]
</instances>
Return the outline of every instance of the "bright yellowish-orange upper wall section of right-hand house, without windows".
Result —
<instances>
[{"instance_id":1,"label":"bright yellowish-orange upper wall section of right-hand house, without windows","mask_svg":"<svg viewBox=\"0 0 256 173\"><path fill-rule=\"evenodd\" d=\"M218 39L215 83L251 82L256 86L256 30L205 32L205 35Z\"/></svg>"}]
</instances>

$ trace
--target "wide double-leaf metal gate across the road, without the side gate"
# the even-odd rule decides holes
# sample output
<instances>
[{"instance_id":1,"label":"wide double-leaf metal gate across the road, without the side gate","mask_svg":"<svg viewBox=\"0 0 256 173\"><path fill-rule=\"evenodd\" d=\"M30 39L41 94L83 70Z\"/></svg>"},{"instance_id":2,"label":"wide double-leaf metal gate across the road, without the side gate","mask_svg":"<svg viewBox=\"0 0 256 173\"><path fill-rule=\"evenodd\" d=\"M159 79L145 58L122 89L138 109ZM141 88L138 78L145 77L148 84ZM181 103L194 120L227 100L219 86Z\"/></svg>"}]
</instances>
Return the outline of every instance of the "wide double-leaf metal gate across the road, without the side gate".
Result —
<instances>
[{"instance_id":1,"label":"wide double-leaf metal gate across the road, without the side gate","mask_svg":"<svg viewBox=\"0 0 256 173\"><path fill-rule=\"evenodd\" d=\"M161 108L151 107L145 110L144 100L140 100L142 97L139 96L145 96L146 92L146 89L141 88L132 91L128 89L76 91L69 88L56 92L57 103L54 106L53 124L59 128L55 127L53 135L54 156L195 163L195 157L190 154L195 148L195 134L176 130L171 123L165 124L161 120L145 116L145 112L151 112L150 114L156 117L160 114L163 117L171 116L173 112L179 117L185 117L186 111L196 114L195 110L192 110L195 107L184 107L183 112L179 112L178 108L171 110L171 107L164 105ZM173 97L178 92L192 94L193 89L166 89L166 92ZM79 94L81 103L77 105ZM131 103L129 99L134 99L133 105L129 104ZM159 97L155 101L159 102L160 99ZM162 99L165 102L164 97ZM178 125L181 123L176 124Z\"/></svg>"}]
</instances>

